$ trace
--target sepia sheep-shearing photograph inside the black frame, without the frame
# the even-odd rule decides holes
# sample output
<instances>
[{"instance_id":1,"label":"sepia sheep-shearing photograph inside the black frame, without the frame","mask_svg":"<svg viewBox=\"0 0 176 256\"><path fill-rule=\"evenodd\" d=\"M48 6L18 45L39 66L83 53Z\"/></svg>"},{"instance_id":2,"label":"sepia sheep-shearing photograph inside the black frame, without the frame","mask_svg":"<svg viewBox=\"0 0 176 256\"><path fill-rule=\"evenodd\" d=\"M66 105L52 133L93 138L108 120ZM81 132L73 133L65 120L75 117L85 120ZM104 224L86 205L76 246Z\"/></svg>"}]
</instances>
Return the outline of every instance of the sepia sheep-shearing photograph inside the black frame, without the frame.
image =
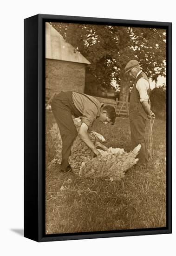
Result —
<instances>
[{"instance_id":1,"label":"sepia sheep-shearing photograph inside the black frame, without the frame","mask_svg":"<svg viewBox=\"0 0 176 256\"><path fill-rule=\"evenodd\" d=\"M45 22L45 234L167 226L167 31Z\"/></svg>"}]
</instances>

